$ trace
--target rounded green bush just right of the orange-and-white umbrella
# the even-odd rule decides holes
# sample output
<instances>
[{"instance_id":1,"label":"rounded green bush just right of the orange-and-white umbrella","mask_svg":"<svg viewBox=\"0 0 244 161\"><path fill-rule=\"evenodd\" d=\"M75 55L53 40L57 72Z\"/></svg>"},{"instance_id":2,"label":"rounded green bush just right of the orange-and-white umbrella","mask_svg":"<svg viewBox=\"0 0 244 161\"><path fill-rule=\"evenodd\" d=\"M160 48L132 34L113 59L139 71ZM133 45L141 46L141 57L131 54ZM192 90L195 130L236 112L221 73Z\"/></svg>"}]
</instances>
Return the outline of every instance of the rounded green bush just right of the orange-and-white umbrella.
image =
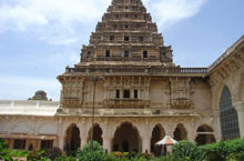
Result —
<instances>
[{"instance_id":1,"label":"rounded green bush just right of the orange-and-white umbrella","mask_svg":"<svg viewBox=\"0 0 244 161\"><path fill-rule=\"evenodd\" d=\"M190 141L181 141L173 145L173 154L177 160L183 161L202 161L203 151Z\"/></svg>"}]
</instances>

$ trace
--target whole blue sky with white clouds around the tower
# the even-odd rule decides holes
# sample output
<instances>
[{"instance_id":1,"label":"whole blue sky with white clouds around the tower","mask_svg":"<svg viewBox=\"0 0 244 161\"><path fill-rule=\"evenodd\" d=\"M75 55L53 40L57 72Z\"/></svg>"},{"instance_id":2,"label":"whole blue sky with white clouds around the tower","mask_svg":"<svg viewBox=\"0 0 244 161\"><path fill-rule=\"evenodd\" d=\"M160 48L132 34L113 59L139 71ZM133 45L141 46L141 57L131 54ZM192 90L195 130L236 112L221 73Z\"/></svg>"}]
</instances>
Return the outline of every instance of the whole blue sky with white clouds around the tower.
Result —
<instances>
[{"instance_id":1,"label":"whole blue sky with white clouds around the tower","mask_svg":"<svg viewBox=\"0 0 244 161\"><path fill-rule=\"evenodd\" d=\"M244 34L243 0L143 0L182 67L209 67ZM79 62L111 0L0 0L0 100L37 90L59 100L57 77Z\"/></svg>"}]
</instances>

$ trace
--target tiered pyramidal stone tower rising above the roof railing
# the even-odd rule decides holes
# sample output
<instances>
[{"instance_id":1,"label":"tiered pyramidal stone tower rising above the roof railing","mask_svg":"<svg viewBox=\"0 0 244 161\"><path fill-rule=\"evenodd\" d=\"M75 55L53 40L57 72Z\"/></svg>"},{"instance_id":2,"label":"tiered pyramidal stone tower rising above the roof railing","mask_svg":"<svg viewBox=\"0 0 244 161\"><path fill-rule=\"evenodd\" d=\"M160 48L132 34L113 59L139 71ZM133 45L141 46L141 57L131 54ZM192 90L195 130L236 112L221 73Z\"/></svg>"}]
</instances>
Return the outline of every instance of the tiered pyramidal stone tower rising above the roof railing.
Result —
<instances>
[{"instance_id":1,"label":"tiered pyramidal stone tower rising above the roof railing","mask_svg":"<svg viewBox=\"0 0 244 161\"><path fill-rule=\"evenodd\" d=\"M118 61L120 63L115 63ZM79 66L85 62L173 66L171 47L164 46L162 34L157 33L157 27L141 0L113 0L92 33L90 44L83 46Z\"/></svg>"}]
</instances>

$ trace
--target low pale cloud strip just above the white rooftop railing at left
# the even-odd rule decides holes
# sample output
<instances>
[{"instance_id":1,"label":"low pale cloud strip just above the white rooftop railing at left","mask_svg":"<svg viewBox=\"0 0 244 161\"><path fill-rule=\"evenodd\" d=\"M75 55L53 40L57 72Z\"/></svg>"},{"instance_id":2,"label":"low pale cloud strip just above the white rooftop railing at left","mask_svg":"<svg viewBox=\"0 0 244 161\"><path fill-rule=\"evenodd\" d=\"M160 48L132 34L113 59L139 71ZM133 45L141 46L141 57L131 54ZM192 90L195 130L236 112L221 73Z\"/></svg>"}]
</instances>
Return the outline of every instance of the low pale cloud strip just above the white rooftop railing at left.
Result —
<instances>
[{"instance_id":1,"label":"low pale cloud strip just above the white rooftop railing at left","mask_svg":"<svg viewBox=\"0 0 244 161\"><path fill-rule=\"evenodd\" d=\"M58 80L32 77L0 76L0 98L27 100L38 90L44 90L48 98L59 100L61 84Z\"/></svg>"}]
</instances>

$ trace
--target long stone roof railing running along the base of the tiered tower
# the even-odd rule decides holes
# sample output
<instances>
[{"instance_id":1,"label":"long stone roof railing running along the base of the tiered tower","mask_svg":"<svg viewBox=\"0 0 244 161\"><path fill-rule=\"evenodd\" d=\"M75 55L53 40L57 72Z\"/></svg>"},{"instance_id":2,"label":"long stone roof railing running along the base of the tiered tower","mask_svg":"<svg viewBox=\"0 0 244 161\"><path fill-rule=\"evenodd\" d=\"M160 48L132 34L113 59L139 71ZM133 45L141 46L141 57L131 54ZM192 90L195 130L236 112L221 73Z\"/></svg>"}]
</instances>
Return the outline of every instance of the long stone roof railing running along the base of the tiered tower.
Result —
<instances>
[{"instance_id":1,"label":"long stone roof railing running along the base of the tiered tower","mask_svg":"<svg viewBox=\"0 0 244 161\"><path fill-rule=\"evenodd\" d=\"M206 74L207 68L67 68L67 73Z\"/></svg>"}]
</instances>

